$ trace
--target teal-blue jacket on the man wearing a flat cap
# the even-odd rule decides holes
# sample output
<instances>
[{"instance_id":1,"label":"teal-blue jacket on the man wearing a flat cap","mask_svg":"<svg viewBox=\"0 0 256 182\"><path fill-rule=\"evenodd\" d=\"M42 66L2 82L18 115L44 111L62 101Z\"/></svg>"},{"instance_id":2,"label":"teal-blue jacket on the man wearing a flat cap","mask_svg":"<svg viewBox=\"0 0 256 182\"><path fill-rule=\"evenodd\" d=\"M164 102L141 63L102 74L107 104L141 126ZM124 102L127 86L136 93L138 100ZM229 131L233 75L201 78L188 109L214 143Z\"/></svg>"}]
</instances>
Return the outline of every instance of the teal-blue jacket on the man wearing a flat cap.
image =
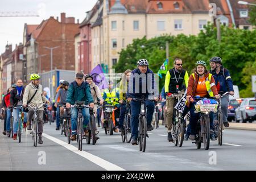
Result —
<instances>
[{"instance_id":1,"label":"teal-blue jacket on the man wearing a flat cap","mask_svg":"<svg viewBox=\"0 0 256 182\"><path fill-rule=\"evenodd\" d=\"M68 88L66 102L75 104L76 101L85 101L85 104L93 103L90 85L87 82L82 82L79 86L76 81L73 81Z\"/></svg>"}]
</instances>

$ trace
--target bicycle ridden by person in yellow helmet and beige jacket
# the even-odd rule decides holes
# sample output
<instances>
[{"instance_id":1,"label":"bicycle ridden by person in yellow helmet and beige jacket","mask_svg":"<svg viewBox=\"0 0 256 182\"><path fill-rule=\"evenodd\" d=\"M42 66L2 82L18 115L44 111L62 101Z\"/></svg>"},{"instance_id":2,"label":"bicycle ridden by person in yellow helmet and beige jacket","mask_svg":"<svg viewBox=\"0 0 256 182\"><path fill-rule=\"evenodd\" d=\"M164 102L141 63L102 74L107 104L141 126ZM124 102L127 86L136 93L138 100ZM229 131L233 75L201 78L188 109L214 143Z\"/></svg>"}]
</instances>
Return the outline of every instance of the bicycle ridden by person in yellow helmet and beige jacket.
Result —
<instances>
[{"instance_id":1,"label":"bicycle ridden by person in yellow helmet and beige jacket","mask_svg":"<svg viewBox=\"0 0 256 182\"><path fill-rule=\"evenodd\" d=\"M31 107L31 109L34 111L34 116L31 122L31 135L32 135L32 140L34 140L34 147L37 146L37 142L38 142L38 111L39 109L44 106L45 104L40 105L39 107L32 105L32 104L28 104L29 107Z\"/></svg>"}]
</instances>

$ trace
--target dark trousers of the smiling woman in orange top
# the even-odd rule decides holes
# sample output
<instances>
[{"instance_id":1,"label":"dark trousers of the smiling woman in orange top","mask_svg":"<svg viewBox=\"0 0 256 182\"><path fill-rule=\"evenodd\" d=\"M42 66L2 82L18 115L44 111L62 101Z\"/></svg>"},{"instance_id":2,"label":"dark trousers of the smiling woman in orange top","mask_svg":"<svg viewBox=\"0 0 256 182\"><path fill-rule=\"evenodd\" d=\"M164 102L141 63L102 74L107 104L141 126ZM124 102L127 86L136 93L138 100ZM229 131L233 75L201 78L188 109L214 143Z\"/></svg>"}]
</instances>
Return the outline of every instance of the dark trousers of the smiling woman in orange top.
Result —
<instances>
[{"instance_id":1,"label":"dark trousers of the smiling woman in orange top","mask_svg":"<svg viewBox=\"0 0 256 182\"><path fill-rule=\"evenodd\" d=\"M189 112L190 112L190 120L189 120L189 125L190 125L190 134L195 135L196 134L196 126L197 126L197 121L200 119L200 113L195 113L195 104L196 102L193 102L190 104L189 107ZM209 114L210 117L210 129L213 129L213 113L210 112Z\"/></svg>"}]
</instances>

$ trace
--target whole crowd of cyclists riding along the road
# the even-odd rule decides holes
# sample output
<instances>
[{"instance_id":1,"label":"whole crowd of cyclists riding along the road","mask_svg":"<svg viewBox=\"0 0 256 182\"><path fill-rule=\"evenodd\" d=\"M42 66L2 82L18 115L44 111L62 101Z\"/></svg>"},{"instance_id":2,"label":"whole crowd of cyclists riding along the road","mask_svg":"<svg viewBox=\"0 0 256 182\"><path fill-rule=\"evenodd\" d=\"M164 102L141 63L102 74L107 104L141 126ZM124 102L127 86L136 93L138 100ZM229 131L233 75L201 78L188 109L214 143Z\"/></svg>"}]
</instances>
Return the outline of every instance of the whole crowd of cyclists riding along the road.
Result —
<instances>
[{"instance_id":1,"label":"whole crowd of cyclists riding along the road","mask_svg":"<svg viewBox=\"0 0 256 182\"><path fill-rule=\"evenodd\" d=\"M229 127L227 121L229 94L234 95L233 81L230 77L228 69L222 65L220 57L212 57L210 60L210 71L207 70L206 61L199 60L195 64L193 73L189 76L188 72L183 69L183 61L175 59L174 68L167 71L164 86L158 93L156 88L156 80L154 72L149 68L150 65L146 59L140 59L137 62L137 68L131 71L127 69L123 73L123 79L119 88L114 87L112 80L108 82L108 88L100 90L98 85L93 82L93 76L90 74L76 73L75 80L71 83L60 80L60 86L56 90L55 100L51 100L47 96L47 92L43 91L40 85L40 75L34 73L30 75L30 84L24 86L22 80L18 79L16 84L7 90L7 94L2 99L1 117L5 120L3 134L10 137L13 130L13 139L17 139L19 109L23 107L23 128L31 130L31 123L34 110L28 105L44 107L38 108L38 143L42 144L42 134L44 123L53 122L56 119L56 130L60 130L60 124L63 122L63 116L71 120L71 136L72 141L77 140L77 118L78 109L72 107L76 102L83 102L84 107L81 110L83 116L84 137L89 136L88 123L90 121L89 110L94 111L97 118L98 127L109 127L109 118L114 119L113 131L115 133L123 132L127 104L130 104L131 119L129 129L131 133L131 144L138 144L138 125L139 114L141 112L141 102L137 99L146 98L144 105L146 106L146 122L147 131L153 130L151 124L155 106L161 102L163 107L163 122L167 128L168 142L174 142L172 138L172 127L175 120L175 97L172 94L187 94L187 102L182 113L182 122L185 129L184 140L195 140L196 126L200 113L195 111L195 97L200 98L216 98L221 99L221 110L225 127ZM142 77L136 79L135 76ZM151 75L151 79L148 78ZM151 92L150 87L154 90ZM221 92L229 92L226 96L220 98ZM151 99L150 99L151 98ZM105 105L114 106L113 113L104 111ZM54 110L56 110L54 112ZM189 113L189 123L185 122L185 117ZM103 115L102 115L103 114ZM112 117L113 114L113 117ZM11 118L13 115L13 126L11 126ZM214 120L217 120L217 114L210 112L210 139L216 140L214 135ZM103 118L103 119L101 119ZM98 133L98 132L97 132ZM99 137L96 137L99 139Z\"/></svg>"}]
</instances>

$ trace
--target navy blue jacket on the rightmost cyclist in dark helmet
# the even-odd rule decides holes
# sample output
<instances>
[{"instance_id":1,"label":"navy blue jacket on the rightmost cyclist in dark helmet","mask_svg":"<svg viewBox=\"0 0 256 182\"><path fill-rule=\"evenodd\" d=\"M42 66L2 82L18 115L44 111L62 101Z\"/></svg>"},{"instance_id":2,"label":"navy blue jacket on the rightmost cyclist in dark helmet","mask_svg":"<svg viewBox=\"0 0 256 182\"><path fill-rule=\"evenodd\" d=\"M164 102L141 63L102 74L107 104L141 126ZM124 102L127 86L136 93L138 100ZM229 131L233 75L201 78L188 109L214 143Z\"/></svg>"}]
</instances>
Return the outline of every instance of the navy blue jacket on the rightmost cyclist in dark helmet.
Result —
<instances>
[{"instance_id":1,"label":"navy blue jacket on the rightmost cyclist in dark helmet","mask_svg":"<svg viewBox=\"0 0 256 182\"><path fill-rule=\"evenodd\" d=\"M221 67L220 73L217 74L216 71L210 71L210 73L212 73L214 77L217 89L218 86L220 86L220 90L218 90L218 92L234 92L233 81L232 78L230 77L228 69Z\"/></svg>"}]
</instances>

